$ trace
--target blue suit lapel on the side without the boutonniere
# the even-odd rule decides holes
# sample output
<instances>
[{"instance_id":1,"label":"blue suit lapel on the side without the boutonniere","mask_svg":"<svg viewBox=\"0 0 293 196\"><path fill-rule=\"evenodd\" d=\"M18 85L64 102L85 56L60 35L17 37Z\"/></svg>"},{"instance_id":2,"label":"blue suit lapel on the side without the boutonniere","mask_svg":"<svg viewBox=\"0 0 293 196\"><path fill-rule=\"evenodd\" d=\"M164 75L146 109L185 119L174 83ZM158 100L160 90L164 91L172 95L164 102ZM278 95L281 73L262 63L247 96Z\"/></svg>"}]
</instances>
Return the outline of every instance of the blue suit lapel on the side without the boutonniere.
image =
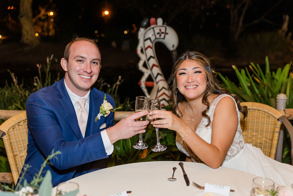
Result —
<instances>
[{"instance_id":1,"label":"blue suit lapel on the side without the boutonniere","mask_svg":"<svg viewBox=\"0 0 293 196\"><path fill-rule=\"evenodd\" d=\"M61 97L61 99L59 99L59 102L62 105L64 112L66 113L66 117L68 119L71 129L73 130L76 137L78 139L81 139L82 135L78 125L76 113L74 110L74 106L72 105L71 99L66 91L64 78L57 82L57 94Z\"/></svg>"}]
</instances>

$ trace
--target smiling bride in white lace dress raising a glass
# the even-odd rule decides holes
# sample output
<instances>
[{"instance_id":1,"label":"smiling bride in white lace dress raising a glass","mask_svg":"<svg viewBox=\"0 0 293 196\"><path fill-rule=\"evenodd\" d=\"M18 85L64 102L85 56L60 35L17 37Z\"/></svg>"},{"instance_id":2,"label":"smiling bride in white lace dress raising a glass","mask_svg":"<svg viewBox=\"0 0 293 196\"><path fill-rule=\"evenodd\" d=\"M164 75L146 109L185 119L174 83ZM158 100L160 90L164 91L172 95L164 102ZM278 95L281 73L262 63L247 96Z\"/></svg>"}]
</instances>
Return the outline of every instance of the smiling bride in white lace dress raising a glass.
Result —
<instances>
[{"instance_id":1,"label":"smiling bride in white lace dress raising a glass","mask_svg":"<svg viewBox=\"0 0 293 196\"><path fill-rule=\"evenodd\" d=\"M209 59L195 51L183 53L173 69L173 113L150 112L152 124L177 132L176 145L185 161L241 170L291 186L293 166L280 163L246 144L240 127L240 112L247 116L239 98L221 88Z\"/></svg>"}]
</instances>

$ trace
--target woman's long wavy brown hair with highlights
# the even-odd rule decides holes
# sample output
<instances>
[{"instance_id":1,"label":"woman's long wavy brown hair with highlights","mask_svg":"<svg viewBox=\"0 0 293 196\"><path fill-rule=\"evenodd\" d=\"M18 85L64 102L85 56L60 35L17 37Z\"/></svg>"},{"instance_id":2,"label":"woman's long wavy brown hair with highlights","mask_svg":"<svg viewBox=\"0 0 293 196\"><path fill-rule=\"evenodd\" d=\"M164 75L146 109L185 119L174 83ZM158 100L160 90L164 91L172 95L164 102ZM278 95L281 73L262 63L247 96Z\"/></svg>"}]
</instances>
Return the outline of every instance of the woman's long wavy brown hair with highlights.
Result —
<instances>
[{"instance_id":1,"label":"woman's long wavy brown hair with highlights","mask_svg":"<svg viewBox=\"0 0 293 196\"><path fill-rule=\"evenodd\" d=\"M173 114L177 115L178 117L182 117L182 113L178 108L179 103L182 101L186 101L186 98L178 91L177 87L177 80L176 80L176 74L178 72L178 69L183 61L190 60L190 61L195 61L199 63L205 73L207 74L207 88L205 89L205 92L202 97L202 103L207 106L207 108L202 112L202 115L208 119L208 124L211 122L211 119L209 118L209 115L207 115L207 111L209 110L209 100L207 99L210 94L228 94L234 98L234 100L237 103L237 107L239 111L243 114L243 118L247 117L247 107L246 106L241 106L240 105L240 100L238 96L231 94L226 88L222 88L220 86L220 83L217 79L217 72L214 71L214 69L211 67L211 62L209 59L196 51L186 51L183 53L178 60L175 62L174 68L173 68L173 73L172 73L172 78L173 78L173 85L171 88L172 91L172 98L174 100L174 105L173 105ZM180 114L179 114L180 113Z\"/></svg>"}]
</instances>

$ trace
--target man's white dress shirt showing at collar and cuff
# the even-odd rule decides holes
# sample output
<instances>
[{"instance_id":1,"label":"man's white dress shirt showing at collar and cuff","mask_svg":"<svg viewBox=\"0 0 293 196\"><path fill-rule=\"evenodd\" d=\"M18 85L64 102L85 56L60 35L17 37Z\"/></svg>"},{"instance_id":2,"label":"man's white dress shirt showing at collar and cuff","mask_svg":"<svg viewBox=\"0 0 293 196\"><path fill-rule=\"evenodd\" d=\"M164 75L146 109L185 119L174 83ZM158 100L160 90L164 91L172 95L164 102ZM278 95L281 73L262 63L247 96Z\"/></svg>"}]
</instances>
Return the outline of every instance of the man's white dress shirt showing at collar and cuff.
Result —
<instances>
[{"instance_id":1,"label":"man's white dress shirt showing at collar and cuff","mask_svg":"<svg viewBox=\"0 0 293 196\"><path fill-rule=\"evenodd\" d=\"M70 97L70 99L71 99L71 102L72 102L72 104L73 104L73 106L74 106L75 113L77 114L77 111L78 111L79 108L80 108L79 105L78 105L78 103L77 103L77 101L78 101L80 98L86 98L86 104L85 104L84 108L86 109L86 111L89 111L89 103L90 103L89 100L90 100L90 91L91 91L91 90L89 90L88 93L86 93L85 96L80 97L80 96L74 94L74 93L68 88L68 86L66 85L65 80L64 80L64 85L65 85L66 91L67 91L67 93L68 93L68 95L69 95L69 97ZM97 111L97 112L98 112L98 111ZM109 137L108 137L108 134L107 134L106 130L102 130L102 131L101 131L101 137L102 137L102 140L103 140L103 144L104 144L104 147L105 147L106 154L107 154L107 155L112 154L112 153L113 153L113 150L114 150L114 146L111 144L110 139L109 139Z\"/></svg>"}]
</instances>

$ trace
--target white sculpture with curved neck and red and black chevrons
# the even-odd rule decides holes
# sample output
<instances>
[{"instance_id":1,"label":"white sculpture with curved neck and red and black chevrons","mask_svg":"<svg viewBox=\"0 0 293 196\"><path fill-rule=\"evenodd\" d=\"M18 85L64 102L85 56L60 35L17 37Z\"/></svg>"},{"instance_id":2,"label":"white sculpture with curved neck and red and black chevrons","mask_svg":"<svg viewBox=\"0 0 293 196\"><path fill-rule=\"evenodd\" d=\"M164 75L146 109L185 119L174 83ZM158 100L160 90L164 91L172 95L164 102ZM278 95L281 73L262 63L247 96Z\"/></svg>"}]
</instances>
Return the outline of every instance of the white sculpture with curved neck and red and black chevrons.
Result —
<instances>
[{"instance_id":1,"label":"white sculpture with curved neck and red and black chevrons","mask_svg":"<svg viewBox=\"0 0 293 196\"><path fill-rule=\"evenodd\" d=\"M158 18L150 19L151 26L147 27L148 19L144 19L138 31L138 45L136 53L140 60L138 69L144 74L139 81L139 86L149 99L160 99L161 106L169 105L171 91L169 85L159 66L155 53L155 43L163 43L170 51L173 63L177 58L176 48L178 46L178 35L170 26L163 24L163 20ZM146 67L144 66L146 64ZM153 82L147 81L151 76ZM149 93L146 86L153 87Z\"/></svg>"}]
</instances>

